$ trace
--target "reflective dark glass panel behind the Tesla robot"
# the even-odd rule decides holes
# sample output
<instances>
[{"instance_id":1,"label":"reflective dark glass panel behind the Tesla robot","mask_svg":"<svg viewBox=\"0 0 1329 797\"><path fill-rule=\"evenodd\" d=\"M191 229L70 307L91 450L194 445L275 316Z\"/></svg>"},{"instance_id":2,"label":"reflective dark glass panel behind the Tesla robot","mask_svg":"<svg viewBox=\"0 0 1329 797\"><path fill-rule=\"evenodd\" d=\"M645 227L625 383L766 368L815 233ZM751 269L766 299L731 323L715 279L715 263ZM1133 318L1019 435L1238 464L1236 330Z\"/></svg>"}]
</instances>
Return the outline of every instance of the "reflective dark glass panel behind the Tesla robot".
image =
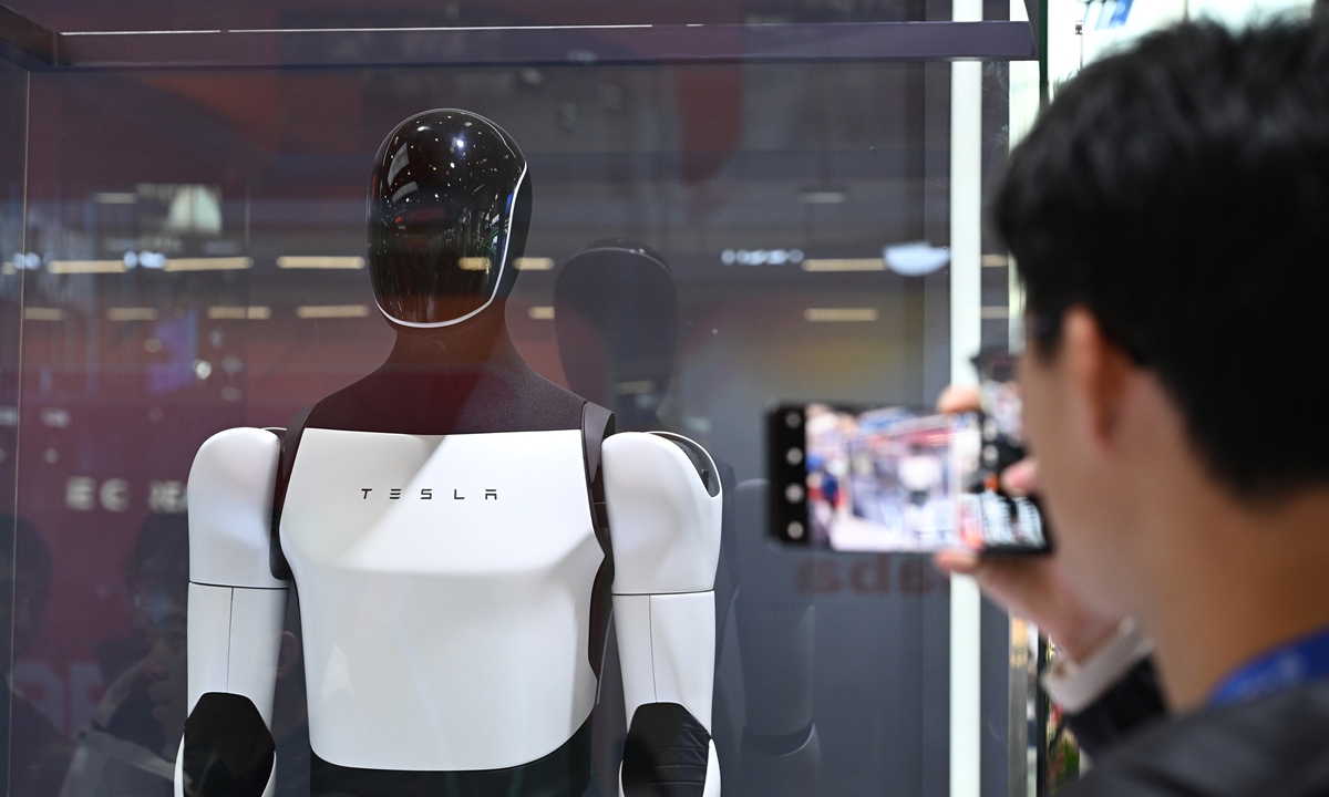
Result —
<instances>
[{"instance_id":1,"label":"reflective dark glass panel behind the Tesla robot","mask_svg":"<svg viewBox=\"0 0 1329 797\"><path fill-rule=\"evenodd\" d=\"M922 16L900 8L882 16ZM506 304L521 356L621 429L702 442L722 472L724 792L948 793L948 584L920 557L771 541L763 414L789 400L926 406L949 381L949 275L898 274L884 251L948 243L949 86L946 64L922 62L35 73L27 243L4 250L32 267L0 280L25 292L19 511L54 565L15 681L84 751L65 794L170 789L194 453L227 428L286 426L383 363L369 171L392 128L431 108L493 120L529 162ZM1005 65L985 86L995 169ZM578 282L567 262L605 239L667 270ZM1001 348L1005 258L985 266L985 344ZM287 631L283 796L308 788L295 602ZM995 794L1014 777L1003 615L985 614L983 639ZM615 667L595 719L605 794L626 725Z\"/></svg>"}]
</instances>

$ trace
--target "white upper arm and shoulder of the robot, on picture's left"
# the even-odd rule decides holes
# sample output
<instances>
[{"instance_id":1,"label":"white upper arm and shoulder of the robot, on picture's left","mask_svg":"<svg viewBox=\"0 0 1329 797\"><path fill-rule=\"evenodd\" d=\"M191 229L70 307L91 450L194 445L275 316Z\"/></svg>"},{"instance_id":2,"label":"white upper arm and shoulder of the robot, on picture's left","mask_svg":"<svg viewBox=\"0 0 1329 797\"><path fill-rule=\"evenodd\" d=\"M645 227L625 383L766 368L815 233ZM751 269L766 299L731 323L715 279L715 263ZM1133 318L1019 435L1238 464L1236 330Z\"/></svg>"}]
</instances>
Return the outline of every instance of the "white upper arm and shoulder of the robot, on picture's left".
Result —
<instances>
[{"instance_id":1,"label":"white upper arm and shoulder of the robot, on picture's left","mask_svg":"<svg viewBox=\"0 0 1329 797\"><path fill-rule=\"evenodd\" d=\"M189 470L189 578L202 584L286 586L270 567L272 490L282 442L264 429L207 438Z\"/></svg>"}]
</instances>

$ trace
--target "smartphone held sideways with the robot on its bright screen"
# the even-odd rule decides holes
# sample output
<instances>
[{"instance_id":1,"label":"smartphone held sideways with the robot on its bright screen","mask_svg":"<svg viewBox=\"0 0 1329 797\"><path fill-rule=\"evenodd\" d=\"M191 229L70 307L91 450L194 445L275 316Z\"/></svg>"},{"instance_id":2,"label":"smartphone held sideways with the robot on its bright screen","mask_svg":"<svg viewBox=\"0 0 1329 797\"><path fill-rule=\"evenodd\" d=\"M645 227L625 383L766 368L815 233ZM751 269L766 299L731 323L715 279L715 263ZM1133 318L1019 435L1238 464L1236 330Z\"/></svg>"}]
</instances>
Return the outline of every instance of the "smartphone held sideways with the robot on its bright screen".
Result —
<instances>
[{"instance_id":1,"label":"smartphone held sideways with the robot on its bright screen","mask_svg":"<svg viewBox=\"0 0 1329 797\"><path fill-rule=\"evenodd\" d=\"M1051 550L1037 502L999 490L997 474L1023 445L990 414L781 404L767 429L771 531L781 542L836 551Z\"/></svg>"}]
</instances>

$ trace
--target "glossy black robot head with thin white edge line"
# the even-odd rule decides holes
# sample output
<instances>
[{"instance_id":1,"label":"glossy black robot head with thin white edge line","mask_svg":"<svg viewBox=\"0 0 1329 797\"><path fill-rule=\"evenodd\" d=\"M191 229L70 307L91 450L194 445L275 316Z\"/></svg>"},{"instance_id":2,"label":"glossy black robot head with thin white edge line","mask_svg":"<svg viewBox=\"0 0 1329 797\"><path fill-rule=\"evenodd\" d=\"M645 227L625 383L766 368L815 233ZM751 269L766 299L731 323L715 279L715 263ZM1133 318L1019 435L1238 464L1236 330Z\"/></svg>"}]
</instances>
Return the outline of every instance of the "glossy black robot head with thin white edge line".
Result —
<instances>
[{"instance_id":1,"label":"glossy black robot head with thin white edge line","mask_svg":"<svg viewBox=\"0 0 1329 797\"><path fill-rule=\"evenodd\" d=\"M465 110L416 114L379 147L369 178L369 278L405 327L464 321L512 291L526 248L526 158Z\"/></svg>"}]
</instances>

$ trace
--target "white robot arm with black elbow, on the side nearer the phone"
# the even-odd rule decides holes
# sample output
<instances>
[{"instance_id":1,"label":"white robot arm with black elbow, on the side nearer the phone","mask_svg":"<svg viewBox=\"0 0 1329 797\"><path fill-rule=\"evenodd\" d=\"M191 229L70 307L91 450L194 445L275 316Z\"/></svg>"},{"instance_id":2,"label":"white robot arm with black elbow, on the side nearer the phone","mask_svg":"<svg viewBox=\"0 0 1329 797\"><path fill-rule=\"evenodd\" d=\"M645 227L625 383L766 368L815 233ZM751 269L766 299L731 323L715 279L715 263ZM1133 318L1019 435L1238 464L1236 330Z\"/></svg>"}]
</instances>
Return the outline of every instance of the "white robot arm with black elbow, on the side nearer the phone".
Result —
<instances>
[{"instance_id":1,"label":"white robot arm with black elbow, on the side nearer the phone","mask_svg":"<svg viewBox=\"0 0 1329 797\"><path fill-rule=\"evenodd\" d=\"M625 797L719 797L711 741L720 482L675 434L605 440L614 618L629 729Z\"/></svg>"}]
</instances>

